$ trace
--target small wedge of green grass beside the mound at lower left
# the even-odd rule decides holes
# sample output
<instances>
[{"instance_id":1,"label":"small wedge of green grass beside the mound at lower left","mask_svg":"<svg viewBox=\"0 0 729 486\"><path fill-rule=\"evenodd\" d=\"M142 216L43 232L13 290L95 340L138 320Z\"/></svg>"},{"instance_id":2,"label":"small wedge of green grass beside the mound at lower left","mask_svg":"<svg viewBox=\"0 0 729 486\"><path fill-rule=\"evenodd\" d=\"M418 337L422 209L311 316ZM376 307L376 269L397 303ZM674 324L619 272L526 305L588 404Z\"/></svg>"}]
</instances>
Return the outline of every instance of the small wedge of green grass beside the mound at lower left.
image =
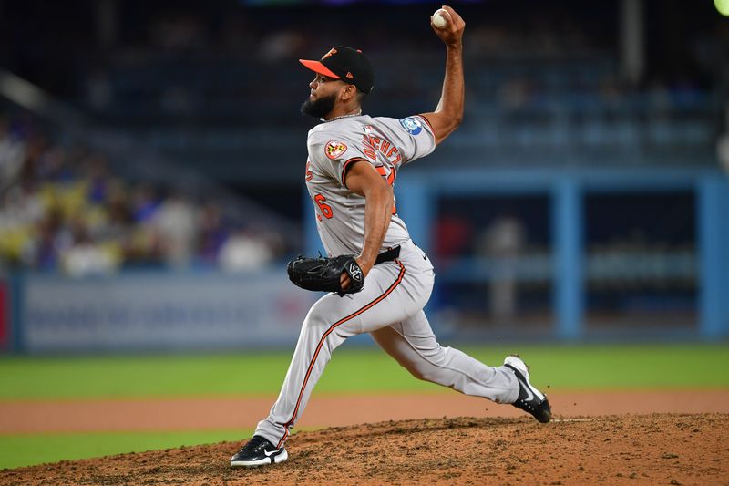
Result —
<instances>
[{"instance_id":1,"label":"small wedge of green grass beside the mound at lower left","mask_svg":"<svg viewBox=\"0 0 729 486\"><path fill-rule=\"evenodd\" d=\"M223 440L242 442L251 434L252 430L209 430L0 436L0 469L178 448L183 445L214 444ZM231 447L231 455L234 449ZM227 458L221 458L224 459Z\"/></svg>"}]
</instances>

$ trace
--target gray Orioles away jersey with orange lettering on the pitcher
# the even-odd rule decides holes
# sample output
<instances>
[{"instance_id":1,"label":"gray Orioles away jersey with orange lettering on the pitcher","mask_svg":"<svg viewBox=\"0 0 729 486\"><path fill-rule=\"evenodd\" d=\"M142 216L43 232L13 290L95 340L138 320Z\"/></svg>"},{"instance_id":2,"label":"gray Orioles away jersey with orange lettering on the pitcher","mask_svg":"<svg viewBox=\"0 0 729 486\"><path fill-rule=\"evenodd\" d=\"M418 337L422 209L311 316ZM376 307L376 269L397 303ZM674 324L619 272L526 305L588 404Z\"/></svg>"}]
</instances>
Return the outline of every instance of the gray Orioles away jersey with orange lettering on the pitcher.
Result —
<instances>
[{"instance_id":1,"label":"gray Orioles away jersey with orange lettering on the pitcher","mask_svg":"<svg viewBox=\"0 0 729 486\"><path fill-rule=\"evenodd\" d=\"M364 196L346 187L350 164L369 163L390 184L402 165L435 150L426 119L372 118L367 115L323 122L309 130L306 188L316 225L329 256L358 254L364 244ZM405 222L392 210L381 252L406 242Z\"/></svg>"}]
</instances>

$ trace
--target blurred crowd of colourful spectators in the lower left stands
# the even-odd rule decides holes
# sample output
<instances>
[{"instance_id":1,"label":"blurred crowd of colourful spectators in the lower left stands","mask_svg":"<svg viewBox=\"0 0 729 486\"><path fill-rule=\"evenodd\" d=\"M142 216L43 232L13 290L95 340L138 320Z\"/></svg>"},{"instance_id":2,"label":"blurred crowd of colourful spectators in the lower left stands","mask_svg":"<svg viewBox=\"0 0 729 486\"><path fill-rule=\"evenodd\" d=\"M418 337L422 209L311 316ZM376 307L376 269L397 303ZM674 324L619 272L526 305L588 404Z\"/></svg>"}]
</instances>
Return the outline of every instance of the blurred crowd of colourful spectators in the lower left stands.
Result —
<instances>
[{"instance_id":1,"label":"blurred crowd of colourful spectators in the lower left stands","mask_svg":"<svg viewBox=\"0 0 729 486\"><path fill-rule=\"evenodd\" d=\"M0 269L108 274L122 267L237 272L285 251L269 228L227 220L212 198L128 181L104 152L0 112Z\"/></svg>"}]
</instances>

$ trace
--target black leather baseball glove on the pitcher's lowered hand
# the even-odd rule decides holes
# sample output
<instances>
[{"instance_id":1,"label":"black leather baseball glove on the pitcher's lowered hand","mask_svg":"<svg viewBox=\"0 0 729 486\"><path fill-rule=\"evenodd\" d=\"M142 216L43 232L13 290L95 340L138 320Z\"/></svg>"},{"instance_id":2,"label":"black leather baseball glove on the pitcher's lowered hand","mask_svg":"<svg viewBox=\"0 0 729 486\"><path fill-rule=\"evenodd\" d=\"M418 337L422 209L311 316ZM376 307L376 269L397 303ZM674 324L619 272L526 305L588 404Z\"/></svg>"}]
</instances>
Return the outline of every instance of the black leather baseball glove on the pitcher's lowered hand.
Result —
<instances>
[{"instance_id":1,"label":"black leather baseball glove on the pitcher's lowered hand","mask_svg":"<svg viewBox=\"0 0 729 486\"><path fill-rule=\"evenodd\" d=\"M339 295L354 294L364 286L364 272L354 260L354 255L343 254L334 258L307 258L300 255L286 266L289 279L294 285L306 290L336 292ZM342 288L339 280L343 273L349 275L349 286Z\"/></svg>"}]
</instances>

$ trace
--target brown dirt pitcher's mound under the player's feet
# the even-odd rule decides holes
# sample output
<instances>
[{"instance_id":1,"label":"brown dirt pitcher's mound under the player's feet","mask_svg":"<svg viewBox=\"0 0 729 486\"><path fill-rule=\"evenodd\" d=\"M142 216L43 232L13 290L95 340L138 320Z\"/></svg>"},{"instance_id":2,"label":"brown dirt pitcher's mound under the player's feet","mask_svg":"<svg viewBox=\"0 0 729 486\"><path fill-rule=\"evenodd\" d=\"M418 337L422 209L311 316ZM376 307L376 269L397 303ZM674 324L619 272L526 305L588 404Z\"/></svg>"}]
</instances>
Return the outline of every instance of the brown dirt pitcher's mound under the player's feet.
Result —
<instances>
[{"instance_id":1,"label":"brown dirt pitcher's mound under the player's feet","mask_svg":"<svg viewBox=\"0 0 729 486\"><path fill-rule=\"evenodd\" d=\"M290 459L232 470L240 444L0 471L0 484L724 484L729 415L419 419L300 432Z\"/></svg>"}]
</instances>

